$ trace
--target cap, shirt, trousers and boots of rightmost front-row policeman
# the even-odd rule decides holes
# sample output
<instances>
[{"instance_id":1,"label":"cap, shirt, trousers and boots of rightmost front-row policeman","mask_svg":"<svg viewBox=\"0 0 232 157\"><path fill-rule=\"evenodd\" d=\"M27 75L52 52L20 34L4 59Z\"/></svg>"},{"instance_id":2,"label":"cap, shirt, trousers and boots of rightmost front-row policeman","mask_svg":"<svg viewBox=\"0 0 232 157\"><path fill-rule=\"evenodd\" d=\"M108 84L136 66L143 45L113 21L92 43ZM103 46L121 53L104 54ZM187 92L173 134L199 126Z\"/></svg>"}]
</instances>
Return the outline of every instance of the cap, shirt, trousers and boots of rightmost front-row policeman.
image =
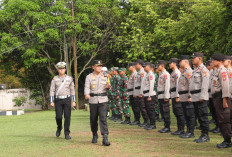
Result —
<instances>
[{"instance_id":1,"label":"cap, shirt, trousers and boots of rightmost front-row policeman","mask_svg":"<svg viewBox=\"0 0 232 157\"><path fill-rule=\"evenodd\" d=\"M215 53L211 57L217 61L223 61L224 55ZM214 106L217 113L217 118L219 122L219 128L221 134L224 138L224 141L221 144L217 144L218 148L227 148L232 146L231 143L231 119L230 119L230 107L231 107L231 100L230 100L230 93L229 93L229 77L226 68L221 65L216 74L212 78L211 84L211 93L213 96ZM223 99L226 99L228 107L223 107Z\"/></svg>"}]
</instances>

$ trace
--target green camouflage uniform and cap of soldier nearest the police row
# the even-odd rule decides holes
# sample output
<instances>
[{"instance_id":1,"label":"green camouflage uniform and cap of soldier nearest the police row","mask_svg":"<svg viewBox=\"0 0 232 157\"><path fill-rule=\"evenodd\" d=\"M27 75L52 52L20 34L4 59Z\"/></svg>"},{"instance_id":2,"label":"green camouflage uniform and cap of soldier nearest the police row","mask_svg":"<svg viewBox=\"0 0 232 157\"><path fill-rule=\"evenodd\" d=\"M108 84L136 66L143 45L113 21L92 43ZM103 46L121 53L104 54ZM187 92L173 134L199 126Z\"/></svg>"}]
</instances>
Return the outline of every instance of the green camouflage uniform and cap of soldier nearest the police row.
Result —
<instances>
[{"instance_id":1,"label":"green camouflage uniform and cap of soldier nearest the police row","mask_svg":"<svg viewBox=\"0 0 232 157\"><path fill-rule=\"evenodd\" d=\"M120 68L120 70L125 70ZM120 97L119 111L123 112L125 117L130 117L130 108L129 108L129 95L127 91L128 77L123 75L118 84L117 95Z\"/></svg>"}]
</instances>

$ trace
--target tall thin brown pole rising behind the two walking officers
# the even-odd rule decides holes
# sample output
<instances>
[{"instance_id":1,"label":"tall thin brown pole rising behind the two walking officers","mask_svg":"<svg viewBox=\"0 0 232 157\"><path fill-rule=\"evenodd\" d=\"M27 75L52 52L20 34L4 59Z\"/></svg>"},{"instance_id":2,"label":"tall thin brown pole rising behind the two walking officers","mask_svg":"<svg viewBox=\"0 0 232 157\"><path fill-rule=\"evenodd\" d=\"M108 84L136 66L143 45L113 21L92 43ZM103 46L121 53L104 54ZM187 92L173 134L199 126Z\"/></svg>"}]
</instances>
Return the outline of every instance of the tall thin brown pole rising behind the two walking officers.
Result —
<instances>
[{"instance_id":1,"label":"tall thin brown pole rising behind the two walking officers","mask_svg":"<svg viewBox=\"0 0 232 157\"><path fill-rule=\"evenodd\" d=\"M74 3L72 0L72 18L73 18L73 24L75 22L74 20ZM77 110L79 109L79 102L78 102L78 78L77 78L77 55L76 55L76 30L73 28L74 35L73 35L73 60L74 60L74 78L75 78L75 93L76 93L76 104L77 104Z\"/></svg>"}]
</instances>

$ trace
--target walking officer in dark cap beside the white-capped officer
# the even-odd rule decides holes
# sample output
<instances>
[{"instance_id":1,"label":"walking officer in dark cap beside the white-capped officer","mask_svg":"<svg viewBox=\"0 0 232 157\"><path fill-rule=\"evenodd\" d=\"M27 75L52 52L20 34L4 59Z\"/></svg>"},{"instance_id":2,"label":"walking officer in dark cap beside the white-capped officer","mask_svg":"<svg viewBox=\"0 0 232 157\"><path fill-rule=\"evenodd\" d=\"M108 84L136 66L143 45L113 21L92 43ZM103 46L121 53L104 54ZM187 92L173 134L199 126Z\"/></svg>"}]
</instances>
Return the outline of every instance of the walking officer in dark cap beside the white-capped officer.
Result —
<instances>
[{"instance_id":1,"label":"walking officer in dark cap beside the white-capped officer","mask_svg":"<svg viewBox=\"0 0 232 157\"><path fill-rule=\"evenodd\" d=\"M93 73L90 73L85 79L85 99L89 100L90 106L90 124L91 131L93 133L92 143L97 143L98 139L98 117L100 122L100 130L103 136L102 144L109 146L108 141L108 127L106 121L107 109L108 109L108 97L107 90L110 88L107 76L101 72L102 61L93 61Z\"/></svg>"}]
</instances>

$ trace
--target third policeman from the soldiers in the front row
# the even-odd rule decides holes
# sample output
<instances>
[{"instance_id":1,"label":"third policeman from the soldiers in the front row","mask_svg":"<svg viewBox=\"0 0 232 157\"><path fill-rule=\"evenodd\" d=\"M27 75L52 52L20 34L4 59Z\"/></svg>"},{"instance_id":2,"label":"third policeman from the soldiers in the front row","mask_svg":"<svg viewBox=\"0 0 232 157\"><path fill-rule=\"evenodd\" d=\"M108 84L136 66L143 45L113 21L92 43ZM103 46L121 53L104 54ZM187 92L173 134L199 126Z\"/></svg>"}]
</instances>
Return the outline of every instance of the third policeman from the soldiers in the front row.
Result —
<instances>
[{"instance_id":1,"label":"third policeman from the soldiers in the front row","mask_svg":"<svg viewBox=\"0 0 232 157\"><path fill-rule=\"evenodd\" d=\"M146 71L147 75L144 80L143 94L144 94L144 103L145 103L146 111L150 120L150 123L144 127L145 130L156 129L155 103L157 103L156 102L157 98L156 98L156 91L154 90L155 75L151 69L152 69L152 64L150 62L145 62L144 70Z\"/></svg>"}]
</instances>

